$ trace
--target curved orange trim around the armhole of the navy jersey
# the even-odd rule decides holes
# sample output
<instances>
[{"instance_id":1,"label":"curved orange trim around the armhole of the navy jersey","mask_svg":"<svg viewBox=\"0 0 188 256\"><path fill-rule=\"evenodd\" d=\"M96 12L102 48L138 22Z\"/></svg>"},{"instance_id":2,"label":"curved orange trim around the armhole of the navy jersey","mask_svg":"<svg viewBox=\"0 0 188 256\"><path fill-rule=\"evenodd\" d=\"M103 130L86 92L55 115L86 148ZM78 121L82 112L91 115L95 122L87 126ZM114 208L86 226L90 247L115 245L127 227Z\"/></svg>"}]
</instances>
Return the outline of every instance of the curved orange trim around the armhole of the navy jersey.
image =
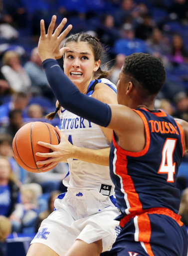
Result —
<instances>
[{"instance_id":1,"label":"curved orange trim around the armhole of the navy jersey","mask_svg":"<svg viewBox=\"0 0 188 256\"><path fill-rule=\"evenodd\" d=\"M139 157L139 156L143 156L144 154L147 153L149 147L150 147L150 128L149 128L149 125L148 125L148 121L145 117L145 115L139 111L139 110L136 110L136 109L133 109L136 113L138 113L140 115L140 117L142 118L143 122L144 122L144 127L145 127L145 132L146 132L146 145L144 147L143 150L139 151L139 152L131 152L131 151L127 151L123 148L121 148L117 143L116 143L116 140L115 140L115 137L114 137L114 134L112 136L112 141L113 141L113 144L114 146L124 155L129 155L129 156L133 156L133 157Z\"/></svg>"}]
</instances>

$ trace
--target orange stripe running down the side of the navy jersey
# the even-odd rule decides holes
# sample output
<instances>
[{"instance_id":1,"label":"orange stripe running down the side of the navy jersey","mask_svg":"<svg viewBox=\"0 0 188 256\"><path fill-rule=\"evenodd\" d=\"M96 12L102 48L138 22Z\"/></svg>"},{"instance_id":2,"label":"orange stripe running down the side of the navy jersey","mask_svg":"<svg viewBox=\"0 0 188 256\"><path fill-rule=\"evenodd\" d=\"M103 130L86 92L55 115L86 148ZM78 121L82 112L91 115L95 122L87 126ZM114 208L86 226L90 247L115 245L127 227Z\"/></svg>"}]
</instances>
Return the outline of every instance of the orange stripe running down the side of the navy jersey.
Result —
<instances>
[{"instance_id":1,"label":"orange stripe running down the side of the navy jersey","mask_svg":"<svg viewBox=\"0 0 188 256\"><path fill-rule=\"evenodd\" d=\"M127 158L123 159L123 164L121 164L122 162L122 157L121 157L121 153L119 153L118 151L116 151L116 155L117 155L117 160L116 163L118 163L116 165L115 163L115 172L117 175L121 176L122 178L122 183L123 183L123 190L125 192L125 201L127 203L127 205L129 204L130 207L128 207L129 212L135 212L138 210L142 210L142 203L139 199L139 195L135 190L135 186L134 186L134 182L131 178L130 175L128 175L127 172Z\"/></svg>"}]
</instances>

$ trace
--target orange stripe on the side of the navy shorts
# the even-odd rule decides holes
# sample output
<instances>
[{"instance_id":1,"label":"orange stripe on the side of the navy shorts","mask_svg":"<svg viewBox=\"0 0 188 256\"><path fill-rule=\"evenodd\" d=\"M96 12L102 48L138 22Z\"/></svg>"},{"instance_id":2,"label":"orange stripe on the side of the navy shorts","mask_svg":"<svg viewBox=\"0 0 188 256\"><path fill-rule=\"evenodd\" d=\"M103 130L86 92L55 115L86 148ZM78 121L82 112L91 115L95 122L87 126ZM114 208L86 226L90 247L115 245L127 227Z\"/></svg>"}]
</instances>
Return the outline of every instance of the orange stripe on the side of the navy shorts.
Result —
<instances>
[{"instance_id":1,"label":"orange stripe on the side of the navy shorts","mask_svg":"<svg viewBox=\"0 0 188 256\"><path fill-rule=\"evenodd\" d=\"M150 238L152 234L152 228L150 224L150 219L147 213L138 216L138 228L139 228L139 241L144 242L147 253L149 256L154 256L150 245Z\"/></svg>"}]
</instances>

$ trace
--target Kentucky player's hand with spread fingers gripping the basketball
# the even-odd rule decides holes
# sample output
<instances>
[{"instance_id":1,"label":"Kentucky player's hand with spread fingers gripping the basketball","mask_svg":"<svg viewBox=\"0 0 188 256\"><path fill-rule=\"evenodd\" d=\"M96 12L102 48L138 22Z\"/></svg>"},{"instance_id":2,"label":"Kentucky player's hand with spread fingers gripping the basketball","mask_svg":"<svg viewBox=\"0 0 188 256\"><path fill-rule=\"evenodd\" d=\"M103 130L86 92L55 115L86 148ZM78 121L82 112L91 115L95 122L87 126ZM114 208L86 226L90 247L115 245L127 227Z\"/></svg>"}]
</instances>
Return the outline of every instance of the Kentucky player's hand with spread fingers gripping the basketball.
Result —
<instances>
[{"instance_id":1,"label":"Kentucky player's hand with spread fingers gripping the basketball","mask_svg":"<svg viewBox=\"0 0 188 256\"><path fill-rule=\"evenodd\" d=\"M68 141L66 136L57 126L55 127L55 129L60 136L60 143L58 145L52 145L49 143L38 141L39 145L52 149L52 152L50 153L40 153L40 152L36 153L36 155L41 157L49 157L46 160L36 162L37 164L41 164L41 165L50 163L49 165L44 167L43 170L53 167L59 162L66 162L68 158L72 158L71 154L72 154L73 145Z\"/></svg>"}]
</instances>

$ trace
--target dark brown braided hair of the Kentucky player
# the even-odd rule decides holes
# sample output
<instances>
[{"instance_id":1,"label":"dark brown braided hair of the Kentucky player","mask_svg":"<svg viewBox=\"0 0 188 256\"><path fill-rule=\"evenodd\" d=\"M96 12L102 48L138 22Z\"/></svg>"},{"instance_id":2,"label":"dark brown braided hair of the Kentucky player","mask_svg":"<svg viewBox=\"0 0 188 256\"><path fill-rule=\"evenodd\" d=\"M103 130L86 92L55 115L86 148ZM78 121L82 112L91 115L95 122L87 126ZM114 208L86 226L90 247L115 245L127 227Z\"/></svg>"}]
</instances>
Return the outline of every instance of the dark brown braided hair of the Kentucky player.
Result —
<instances>
[{"instance_id":1,"label":"dark brown braided hair of the Kentucky player","mask_svg":"<svg viewBox=\"0 0 188 256\"><path fill-rule=\"evenodd\" d=\"M90 34L86 34L86 33L71 34L69 37L67 37L63 46L67 47L69 42L86 42L93 52L95 61L101 59L102 53L104 52L104 48L100 43L99 39ZM109 71L102 70L100 66L98 70L95 71L95 77L97 77L97 79L107 78L109 74L110 74ZM58 106L56 107L56 110L54 112L46 114L45 118L47 118L48 120L52 120L56 115L56 113L58 112L58 110L60 109L60 107L61 105L58 104Z\"/></svg>"}]
</instances>

